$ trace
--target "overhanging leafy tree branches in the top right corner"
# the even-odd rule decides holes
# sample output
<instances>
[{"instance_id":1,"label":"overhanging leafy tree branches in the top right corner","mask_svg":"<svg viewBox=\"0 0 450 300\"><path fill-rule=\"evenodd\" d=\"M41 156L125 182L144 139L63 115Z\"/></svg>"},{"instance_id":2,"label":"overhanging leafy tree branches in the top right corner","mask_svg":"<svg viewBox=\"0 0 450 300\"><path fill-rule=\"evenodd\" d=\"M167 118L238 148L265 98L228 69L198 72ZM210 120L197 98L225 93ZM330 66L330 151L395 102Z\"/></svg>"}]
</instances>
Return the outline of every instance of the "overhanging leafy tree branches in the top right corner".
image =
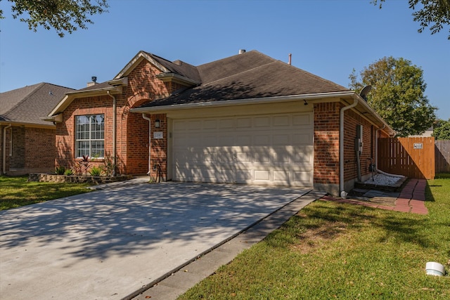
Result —
<instances>
[{"instance_id":1,"label":"overhanging leafy tree branches in the top right corner","mask_svg":"<svg viewBox=\"0 0 450 300\"><path fill-rule=\"evenodd\" d=\"M373 0L374 5L380 8L385 0ZM409 0L409 8L413 9L413 20L420 23L418 32L423 32L430 26L431 34L435 34L450 25L450 1L449 0ZM418 11L416 11L416 8ZM450 39L450 29L449 37Z\"/></svg>"}]
</instances>

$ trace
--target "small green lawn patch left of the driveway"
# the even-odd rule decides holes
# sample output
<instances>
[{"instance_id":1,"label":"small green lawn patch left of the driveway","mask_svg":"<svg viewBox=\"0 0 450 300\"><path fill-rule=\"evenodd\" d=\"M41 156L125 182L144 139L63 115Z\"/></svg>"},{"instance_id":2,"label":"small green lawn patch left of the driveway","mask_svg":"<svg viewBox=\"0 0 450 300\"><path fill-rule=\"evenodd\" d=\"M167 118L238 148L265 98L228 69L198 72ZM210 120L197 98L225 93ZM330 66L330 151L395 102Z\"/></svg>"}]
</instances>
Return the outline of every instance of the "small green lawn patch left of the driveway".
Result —
<instances>
[{"instance_id":1,"label":"small green lawn patch left of the driveway","mask_svg":"<svg viewBox=\"0 0 450 300\"><path fill-rule=\"evenodd\" d=\"M0 210L89 192L89 184L27 182L27 176L0 176Z\"/></svg>"}]
</instances>

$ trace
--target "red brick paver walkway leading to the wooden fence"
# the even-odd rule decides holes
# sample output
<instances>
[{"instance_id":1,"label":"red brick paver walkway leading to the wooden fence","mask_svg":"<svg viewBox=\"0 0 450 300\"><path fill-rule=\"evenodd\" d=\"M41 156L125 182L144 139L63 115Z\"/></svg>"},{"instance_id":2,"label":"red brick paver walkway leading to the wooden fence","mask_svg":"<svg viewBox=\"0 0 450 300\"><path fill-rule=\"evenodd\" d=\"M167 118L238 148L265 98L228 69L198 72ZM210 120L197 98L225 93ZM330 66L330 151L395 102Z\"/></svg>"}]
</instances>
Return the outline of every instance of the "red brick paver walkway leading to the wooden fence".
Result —
<instances>
[{"instance_id":1,"label":"red brick paver walkway leading to the wooden fence","mask_svg":"<svg viewBox=\"0 0 450 300\"><path fill-rule=\"evenodd\" d=\"M425 188L427 181L425 179L410 179L401 190L401 193L394 202L394 206L380 205L371 202L363 202L352 199L338 199L331 196L324 196L321 200L334 201L340 203L358 204L366 207L378 209L387 209L392 211L402 211L413 214L428 214L425 207ZM374 193L376 194L376 193ZM381 195L380 193L379 195Z\"/></svg>"}]
</instances>

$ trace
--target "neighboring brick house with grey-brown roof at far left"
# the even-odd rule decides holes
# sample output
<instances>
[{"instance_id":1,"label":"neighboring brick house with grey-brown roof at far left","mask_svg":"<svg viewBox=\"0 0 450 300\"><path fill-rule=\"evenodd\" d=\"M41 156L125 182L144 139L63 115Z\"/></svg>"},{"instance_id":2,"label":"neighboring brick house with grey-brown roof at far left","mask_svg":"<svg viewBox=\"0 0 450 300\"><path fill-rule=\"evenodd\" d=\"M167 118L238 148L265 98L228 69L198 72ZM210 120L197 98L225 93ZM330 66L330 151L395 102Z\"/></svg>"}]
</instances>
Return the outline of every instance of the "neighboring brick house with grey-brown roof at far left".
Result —
<instances>
[{"instance_id":1,"label":"neighboring brick house with grey-brown roof at far left","mask_svg":"<svg viewBox=\"0 0 450 300\"><path fill-rule=\"evenodd\" d=\"M68 91L40 83L0 93L0 174L54 171L56 126L40 117Z\"/></svg>"}]
</instances>

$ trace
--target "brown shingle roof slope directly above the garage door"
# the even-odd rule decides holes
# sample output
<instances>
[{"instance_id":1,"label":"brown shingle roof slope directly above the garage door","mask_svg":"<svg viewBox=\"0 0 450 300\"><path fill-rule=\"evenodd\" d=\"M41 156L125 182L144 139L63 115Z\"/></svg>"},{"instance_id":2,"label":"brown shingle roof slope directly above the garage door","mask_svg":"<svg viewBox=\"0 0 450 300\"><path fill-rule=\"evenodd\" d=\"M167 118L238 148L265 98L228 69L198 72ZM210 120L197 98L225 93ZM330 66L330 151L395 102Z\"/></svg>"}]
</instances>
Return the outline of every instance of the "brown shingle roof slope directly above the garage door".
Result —
<instances>
[{"instance_id":1,"label":"brown shingle roof slope directly above the garage door","mask_svg":"<svg viewBox=\"0 0 450 300\"><path fill-rule=\"evenodd\" d=\"M349 91L258 51L197 67L202 84L141 107Z\"/></svg>"}]
</instances>

